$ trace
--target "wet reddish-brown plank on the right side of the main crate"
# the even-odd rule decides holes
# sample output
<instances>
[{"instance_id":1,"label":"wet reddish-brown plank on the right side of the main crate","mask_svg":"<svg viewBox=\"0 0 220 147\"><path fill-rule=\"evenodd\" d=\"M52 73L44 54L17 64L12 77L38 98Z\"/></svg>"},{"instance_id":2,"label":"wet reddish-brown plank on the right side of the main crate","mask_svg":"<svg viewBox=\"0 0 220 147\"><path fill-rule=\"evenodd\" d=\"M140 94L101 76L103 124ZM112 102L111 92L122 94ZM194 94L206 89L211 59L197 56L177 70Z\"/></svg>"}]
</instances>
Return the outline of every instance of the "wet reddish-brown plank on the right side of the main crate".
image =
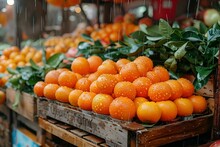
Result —
<instances>
[{"instance_id":1,"label":"wet reddish-brown plank on the right side of the main crate","mask_svg":"<svg viewBox=\"0 0 220 147\"><path fill-rule=\"evenodd\" d=\"M137 146L159 146L203 134L211 129L212 114L137 131Z\"/></svg>"}]
</instances>

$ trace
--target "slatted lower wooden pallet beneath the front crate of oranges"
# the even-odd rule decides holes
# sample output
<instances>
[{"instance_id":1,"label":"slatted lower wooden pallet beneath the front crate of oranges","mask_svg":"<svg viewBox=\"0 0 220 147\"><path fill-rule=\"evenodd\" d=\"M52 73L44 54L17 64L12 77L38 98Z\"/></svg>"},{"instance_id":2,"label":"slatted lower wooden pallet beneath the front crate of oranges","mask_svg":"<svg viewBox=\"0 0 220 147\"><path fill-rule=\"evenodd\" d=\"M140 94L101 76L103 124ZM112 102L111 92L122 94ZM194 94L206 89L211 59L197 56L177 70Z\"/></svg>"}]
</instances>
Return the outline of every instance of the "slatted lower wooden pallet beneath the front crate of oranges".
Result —
<instances>
[{"instance_id":1,"label":"slatted lower wooden pallet beneath the front crate of oranges","mask_svg":"<svg viewBox=\"0 0 220 147\"><path fill-rule=\"evenodd\" d=\"M105 144L104 139L56 120L39 118L38 122L39 126L47 132L75 146L97 147Z\"/></svg>"}]
</instances>

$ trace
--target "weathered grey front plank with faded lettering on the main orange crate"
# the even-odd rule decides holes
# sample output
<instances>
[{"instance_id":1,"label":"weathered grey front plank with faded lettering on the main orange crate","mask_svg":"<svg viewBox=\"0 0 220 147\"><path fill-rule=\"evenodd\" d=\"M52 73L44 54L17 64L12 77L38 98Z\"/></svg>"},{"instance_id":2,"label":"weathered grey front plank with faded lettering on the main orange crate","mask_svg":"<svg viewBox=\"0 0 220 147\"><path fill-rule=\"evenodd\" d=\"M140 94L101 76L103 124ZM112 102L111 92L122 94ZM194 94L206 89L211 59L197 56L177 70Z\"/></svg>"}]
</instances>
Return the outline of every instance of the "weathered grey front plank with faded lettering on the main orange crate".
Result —
<instances>
[{"instance_id":1,"label":"weathered grey front plank with faded lettering on the main orange crate","mask_svg":"<svg viewBox=\"0 0 220 147\"><path fill-rule=\"evenodd\" d=\"M128 130L109 119L101 118L100 115L79 110L68 104L57 101L38 99L38 115L46 118L51 117L72 125L106 140L110 146L128 146Z\"/></svg>"}]
</instances>

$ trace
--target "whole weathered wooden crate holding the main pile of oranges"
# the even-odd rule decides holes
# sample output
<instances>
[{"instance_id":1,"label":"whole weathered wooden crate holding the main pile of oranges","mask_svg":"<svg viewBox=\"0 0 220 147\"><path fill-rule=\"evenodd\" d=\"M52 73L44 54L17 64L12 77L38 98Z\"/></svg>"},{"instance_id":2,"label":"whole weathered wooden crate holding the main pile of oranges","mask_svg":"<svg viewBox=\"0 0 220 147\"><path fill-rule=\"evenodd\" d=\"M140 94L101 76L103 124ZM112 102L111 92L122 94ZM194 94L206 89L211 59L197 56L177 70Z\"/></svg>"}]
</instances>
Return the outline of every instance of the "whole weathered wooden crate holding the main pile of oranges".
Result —
<instances>
[{"instance_id":1,"label":"whole weathered wooden crate holding the main pile of oranges","mask_svg":"<svg viewBox=\"0 0 220 147\"><path fill-rule=\"evenodd\" d=\"M212 114L145 128L135 122L118 121L45 98L38 98L37 106L40 117L53 118L94 134L109 146L158 146L203 134L212 125Z\"/></svg>"}]
</instances>

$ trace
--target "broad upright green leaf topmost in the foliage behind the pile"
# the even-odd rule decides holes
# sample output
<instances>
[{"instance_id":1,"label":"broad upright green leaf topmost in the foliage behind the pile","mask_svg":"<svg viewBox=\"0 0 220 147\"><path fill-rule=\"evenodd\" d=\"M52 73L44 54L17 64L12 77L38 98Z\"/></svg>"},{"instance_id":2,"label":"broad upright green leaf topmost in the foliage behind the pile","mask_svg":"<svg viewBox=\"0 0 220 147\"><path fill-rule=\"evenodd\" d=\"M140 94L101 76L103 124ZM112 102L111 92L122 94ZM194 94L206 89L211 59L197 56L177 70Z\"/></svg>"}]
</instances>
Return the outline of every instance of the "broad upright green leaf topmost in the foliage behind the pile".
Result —
<instances>
[{"instance_id":1,"label":"broad upright green leaf topmost in the foliage behind the pile","mask_svg":"<svg viewBox=\"0 0 220 147\"><path fill-rule=\"evenodd\" d=\"M173 29L169 25L169 23L163 19L159 21L159 31L162 36L166 38L170 38L171 34L173 33Z\"/></svg>"}]
</instances>

